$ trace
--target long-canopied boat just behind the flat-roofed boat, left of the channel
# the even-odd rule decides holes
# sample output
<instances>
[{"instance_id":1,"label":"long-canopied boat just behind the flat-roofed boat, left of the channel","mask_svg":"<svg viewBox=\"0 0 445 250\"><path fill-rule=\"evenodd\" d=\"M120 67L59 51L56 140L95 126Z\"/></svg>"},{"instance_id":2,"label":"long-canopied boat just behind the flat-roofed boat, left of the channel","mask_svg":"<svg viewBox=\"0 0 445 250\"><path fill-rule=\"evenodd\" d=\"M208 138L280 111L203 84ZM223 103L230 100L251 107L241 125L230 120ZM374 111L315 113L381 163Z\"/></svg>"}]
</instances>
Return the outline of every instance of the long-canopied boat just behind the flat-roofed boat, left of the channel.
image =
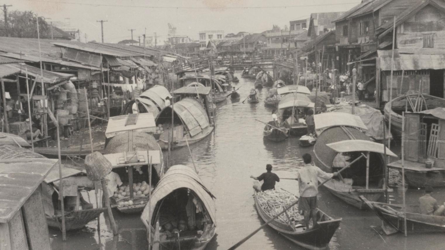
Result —
<instances>
[{"instance_id":1,"label":"long-canopied boat just behind the flat-roofed boat, left of the channel","mask_svg":"<svg viewBox=\"0 0 445 250\"><path fill-rule=\"evenodd\" d=\"M193 87L203 86L211 87L211 96L214 103L219 103L227 99L227 92L221 81L217 77L204 75L187 75L179 79L179 86Z\"/></svg>"}]
</instances>

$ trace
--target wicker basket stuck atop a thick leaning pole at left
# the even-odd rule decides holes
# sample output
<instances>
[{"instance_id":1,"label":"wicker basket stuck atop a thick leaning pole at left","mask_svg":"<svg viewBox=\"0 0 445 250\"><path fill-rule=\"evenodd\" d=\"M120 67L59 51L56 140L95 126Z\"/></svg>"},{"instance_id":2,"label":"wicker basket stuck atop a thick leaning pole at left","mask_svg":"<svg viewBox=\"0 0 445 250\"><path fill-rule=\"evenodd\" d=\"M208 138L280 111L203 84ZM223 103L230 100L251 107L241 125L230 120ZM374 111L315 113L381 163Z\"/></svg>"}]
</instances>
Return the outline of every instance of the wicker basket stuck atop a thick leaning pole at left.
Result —
<instances>
[{"instance_id":1,"label":"wicker basket stuck atop a thick leaning pole at left","mask_svg":"<svg viewBox=\"0 0 445 250\"><path fill-rule=\"evenodd\" d=\"M92 181L101 181L113 168L111 162L97 151L85 157L85 164L86 174Z\"/></svg>"}]
</instances>

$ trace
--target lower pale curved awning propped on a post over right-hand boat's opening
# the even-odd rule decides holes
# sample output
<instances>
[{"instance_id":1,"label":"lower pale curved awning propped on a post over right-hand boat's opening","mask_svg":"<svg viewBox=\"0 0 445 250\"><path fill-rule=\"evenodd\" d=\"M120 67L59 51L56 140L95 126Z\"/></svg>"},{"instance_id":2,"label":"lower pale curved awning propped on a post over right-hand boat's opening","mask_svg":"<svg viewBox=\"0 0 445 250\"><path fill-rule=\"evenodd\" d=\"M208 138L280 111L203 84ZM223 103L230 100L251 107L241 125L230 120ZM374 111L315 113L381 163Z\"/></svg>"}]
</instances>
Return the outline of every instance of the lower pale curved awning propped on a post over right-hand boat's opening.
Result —
<instances>
[{"instance_id":1,"label":"lower pale curved awning propped on a post over right-hand boat's opening","mask_svg":"<svg viewBox=\"0 0 445 250\"><path fill-rule=\"evenodd\" d=\"M346 140L346 141L337 141L326 145L338 153L366 151L366 152L383 154L384 148L386 148L386 155L397 157L395 153L392 153L392 151L389 150L387 147L385 147L383 144L373 141Z\"/></svg>"}]
</instances>

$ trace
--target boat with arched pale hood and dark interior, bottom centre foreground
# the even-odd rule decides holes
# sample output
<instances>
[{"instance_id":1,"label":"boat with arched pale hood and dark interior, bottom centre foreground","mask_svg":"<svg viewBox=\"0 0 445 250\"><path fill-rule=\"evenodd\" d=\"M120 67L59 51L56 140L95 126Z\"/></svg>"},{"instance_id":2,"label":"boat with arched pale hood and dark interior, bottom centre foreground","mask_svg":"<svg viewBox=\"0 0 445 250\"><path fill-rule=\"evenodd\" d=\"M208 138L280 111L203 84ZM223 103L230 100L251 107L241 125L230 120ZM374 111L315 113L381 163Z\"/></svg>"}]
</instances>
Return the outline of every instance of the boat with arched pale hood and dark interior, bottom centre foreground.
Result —
<instances>
[{"instance_id":1,"label":"boat with arched pale hood and dark interior, bottom centre foreground","mask_svg":"<svg viewBox=\"0 0 445 250\"><path fill-rule=\"evenodd\" d=\"M179 198L184 201L181 205L177 205ZM148 230L149 249L206 248L216 232L214 199L214 195L206 189L193 169L184 165L171 166L154 189L150 203L141 215ZM189 212L186 218L177 221L178 218L171 214L172 210ZM172 225L175 224L178 228L183 226L182 230L174 230Z\"/></svg>"}]
</instances>

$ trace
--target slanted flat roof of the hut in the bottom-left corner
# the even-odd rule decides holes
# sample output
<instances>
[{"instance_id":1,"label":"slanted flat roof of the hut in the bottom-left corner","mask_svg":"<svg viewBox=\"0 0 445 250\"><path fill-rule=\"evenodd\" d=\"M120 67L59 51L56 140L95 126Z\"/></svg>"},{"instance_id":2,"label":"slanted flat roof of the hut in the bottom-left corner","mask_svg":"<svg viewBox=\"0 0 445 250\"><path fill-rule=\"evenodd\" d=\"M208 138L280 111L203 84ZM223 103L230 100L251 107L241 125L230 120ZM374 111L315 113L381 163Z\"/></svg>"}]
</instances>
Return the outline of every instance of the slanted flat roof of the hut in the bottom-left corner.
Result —
<instances>
[{"instance_id":1,"label":"slanted flat roof of the hut in the bottom-left corner","mask_svg":"<svg viewBox=\"0 0 445 250\"><path fill-rule=\"evenodd\" d=\"M0 223L8 222L39 187L56 159L13 159L0 161Z\"/></svg>"}]
</instances>

